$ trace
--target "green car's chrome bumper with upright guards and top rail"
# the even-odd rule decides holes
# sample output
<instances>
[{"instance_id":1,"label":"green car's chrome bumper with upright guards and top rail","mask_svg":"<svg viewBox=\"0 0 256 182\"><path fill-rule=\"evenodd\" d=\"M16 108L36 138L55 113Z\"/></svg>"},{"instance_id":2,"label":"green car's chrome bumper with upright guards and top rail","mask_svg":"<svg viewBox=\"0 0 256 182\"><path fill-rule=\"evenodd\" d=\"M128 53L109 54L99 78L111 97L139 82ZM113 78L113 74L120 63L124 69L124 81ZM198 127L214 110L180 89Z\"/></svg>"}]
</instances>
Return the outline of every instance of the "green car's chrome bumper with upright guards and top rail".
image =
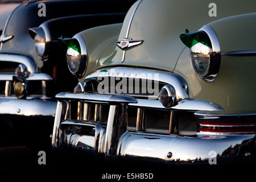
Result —
<instances>
[{"instance_id":1,"label":"green car's chrome bumper with upright guards and top rail","mask_svg":"<svg viewBox=\"0 0 256 182\"><path fill-rule=\"evenodd\" d=\"M154 107L159 101L142 100L125 95L60 93L52 146L61 151L91 152L108 158L135 158L168 164L209 164L255 162L255 133L241 135L210 135L197 133L186 137L177 134L152 134L127 131L126 109L129 106ZM69 119L69 102L83 101L110 105L107 123ZM191 102L191 100L189 100ZM182 102L187 105L186 100ZM205 104L204 102L202 104ZM201 104L199 104L200 106ZM189 105L188 105L189 106ZM174 109L180 106L175 106ZM185 108L185 107L180 107ZM188 107L190 108L190 107ZM219 107L207 107L218 110Z\"/></svg>"}]
</instances>

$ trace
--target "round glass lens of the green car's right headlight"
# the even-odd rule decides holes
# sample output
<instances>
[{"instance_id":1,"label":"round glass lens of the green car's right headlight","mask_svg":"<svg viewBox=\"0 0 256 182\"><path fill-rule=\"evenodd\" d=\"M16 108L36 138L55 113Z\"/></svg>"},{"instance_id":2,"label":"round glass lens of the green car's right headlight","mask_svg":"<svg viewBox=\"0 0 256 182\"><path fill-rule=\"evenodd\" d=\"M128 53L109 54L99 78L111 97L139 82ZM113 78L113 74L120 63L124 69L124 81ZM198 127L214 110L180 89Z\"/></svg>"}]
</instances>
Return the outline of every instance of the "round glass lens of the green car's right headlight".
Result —
<instances>
[{"instance_id":1,"label":"round glass lens of the green car's right headlight","mask_svg":"<svg viewBox=\"0 0 256 182\"><path fill-rule=\"evenodd\" d=\"M204 77L210 70L211 48L202 43L197 43L191 47L191 63L197 75Z\"/></svg>"}]
</instances>

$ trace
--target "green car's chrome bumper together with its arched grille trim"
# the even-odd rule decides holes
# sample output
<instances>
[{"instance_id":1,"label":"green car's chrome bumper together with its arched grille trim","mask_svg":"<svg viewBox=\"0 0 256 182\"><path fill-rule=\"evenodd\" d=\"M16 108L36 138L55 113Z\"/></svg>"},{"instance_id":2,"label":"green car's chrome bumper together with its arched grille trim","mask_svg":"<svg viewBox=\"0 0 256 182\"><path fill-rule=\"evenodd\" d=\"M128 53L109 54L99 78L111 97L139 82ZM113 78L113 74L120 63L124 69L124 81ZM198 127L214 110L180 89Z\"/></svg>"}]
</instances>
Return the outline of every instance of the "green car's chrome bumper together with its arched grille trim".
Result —
<instances>
[{"instance_id":1,"label":"green car's chrome bumper together with its arched grille trim","mask_svg":"<svg viewBox=\"0 0 256 182\"><path fill-rule=\"evenodd\" d=\"M133 68L115 68L115 72L104 69L90 74L84 81L89 82L101 76L144 78L137 77L138 72L154 73L150 70ZM106 158L152 159L168 164L209 164L214 163L215 159L217 164L225 163L226 160L228 160L227 163L255 162L255 132L207 134L201 133L198 127L197 131L193 130L195 132L190 136L177 132L175 114L172 115L175 111L195 115L195 112L198 114L200 111L221 113L223 109L209 101L189 99L186 92L187 84L182 77L174 73L160 71L158 73L161 78L158 81L172 85L176 90L179 98L177 105L166 108L159 100L146 100L118 94L86 92L57 94L58 104L52 134L53 148L60 151L92 152L96 155L104 155ZM90 105L95 105L93 114L88 109ZM96 105L109 107L104 119L97 119L100 111ZM134 119L135 129L131 129L128 127L127 110L134 108L137 109L137 117ZM151 113L154 113L154 110L170 111L167 133L156 134L158 132L156 130L146 130L146 120L142 111L146 109L151 110ZM89 114L93 115L93 119L88 117ZM203 119L209 118L203 117ZM216 126L210 125L210 129L212 127ZM218 127L222 130L222 126ZM255 129L254 123L253 127Z\"/></svg>"}]
</instances>

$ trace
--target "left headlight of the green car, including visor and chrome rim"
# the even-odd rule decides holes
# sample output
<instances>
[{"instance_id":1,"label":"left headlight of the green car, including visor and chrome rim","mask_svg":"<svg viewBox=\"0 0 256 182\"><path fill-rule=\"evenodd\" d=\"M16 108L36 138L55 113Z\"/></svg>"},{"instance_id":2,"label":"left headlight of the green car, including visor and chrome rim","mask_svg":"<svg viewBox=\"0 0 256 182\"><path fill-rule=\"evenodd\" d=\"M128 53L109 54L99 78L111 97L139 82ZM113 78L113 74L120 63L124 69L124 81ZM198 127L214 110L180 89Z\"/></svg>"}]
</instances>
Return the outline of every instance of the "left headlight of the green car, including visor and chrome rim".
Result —
<instances>
[{"instance_id":1,"label":"left headlight of the green car, including visor and chrome rim","mask_svg":"<svg viewBox=\"0 0 256 182\"><path fill-rule=\"evenodd\" d=\"M76 77L84 76L87 66L87 50L85 41L80 34L73 38L59 39L59 43L67 50L67 63L69 71Z\"/></svg>"}]
</instances>

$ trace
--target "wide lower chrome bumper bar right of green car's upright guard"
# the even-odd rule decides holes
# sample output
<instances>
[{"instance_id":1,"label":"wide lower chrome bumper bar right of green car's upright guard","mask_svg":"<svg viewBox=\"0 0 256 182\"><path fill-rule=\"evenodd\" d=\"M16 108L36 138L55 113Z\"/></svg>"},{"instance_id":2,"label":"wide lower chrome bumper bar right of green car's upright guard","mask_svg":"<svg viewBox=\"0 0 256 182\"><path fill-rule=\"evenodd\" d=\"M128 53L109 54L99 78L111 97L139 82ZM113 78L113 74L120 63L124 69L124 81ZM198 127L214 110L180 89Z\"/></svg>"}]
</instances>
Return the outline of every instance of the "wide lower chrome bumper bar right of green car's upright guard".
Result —
<instances>
[{"instance_id":1,"label":"wide lower chrome bumper bar right of green car's upright guard","mask_svg":"<svg viewBox=\"0 0 256 182\"><path fill-rule=\"evenodd\" d=\"M170 163L208 164L210 151L216 152L217 163L228 159L233 159L236 163L236 160L247 151L255 151L256 147L255 134L229 136L197 134L197 137L181 137L126 132L122 139L118 144L118 156L155 159ZM169 152L172 153L171 158Z\"/></svg>"}]
</instances>

